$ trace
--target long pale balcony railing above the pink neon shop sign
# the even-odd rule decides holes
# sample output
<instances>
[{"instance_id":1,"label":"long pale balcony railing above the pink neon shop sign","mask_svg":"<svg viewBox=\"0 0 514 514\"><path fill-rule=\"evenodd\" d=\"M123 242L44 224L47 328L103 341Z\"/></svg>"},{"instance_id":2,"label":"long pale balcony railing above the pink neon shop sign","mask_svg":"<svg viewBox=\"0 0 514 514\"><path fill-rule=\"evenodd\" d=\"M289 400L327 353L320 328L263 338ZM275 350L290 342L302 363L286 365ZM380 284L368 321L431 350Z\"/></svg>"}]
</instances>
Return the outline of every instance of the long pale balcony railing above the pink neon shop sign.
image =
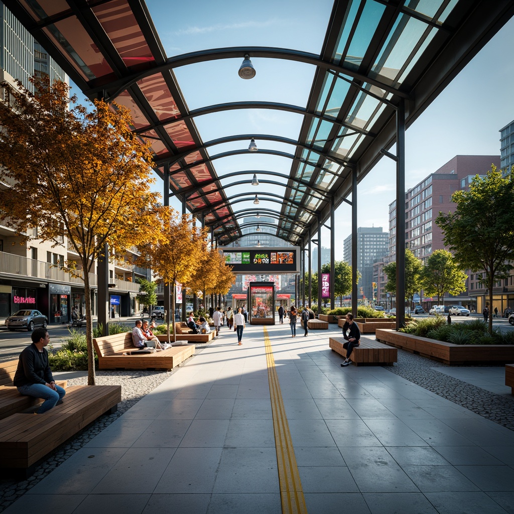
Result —
<instances>
[{"instance_id":1,"label":"long pale balcony railing above the pink neon shop sign","mask_svg":"<svg viewBox=\"0 0 514 514\"><path fill-rule=\"evenodd\" d=\"M32 277L34 279L68 282L71 284L84 283L82 270L75 270L74 273L78 276L74 277L57 265L34 261L33 259L27 259L26 257L6 252L0 252L0 273L17 275L19 277ZM97 276L95 273L89 273L89 285L97 285Z\"/></svg>"}]
</instances>

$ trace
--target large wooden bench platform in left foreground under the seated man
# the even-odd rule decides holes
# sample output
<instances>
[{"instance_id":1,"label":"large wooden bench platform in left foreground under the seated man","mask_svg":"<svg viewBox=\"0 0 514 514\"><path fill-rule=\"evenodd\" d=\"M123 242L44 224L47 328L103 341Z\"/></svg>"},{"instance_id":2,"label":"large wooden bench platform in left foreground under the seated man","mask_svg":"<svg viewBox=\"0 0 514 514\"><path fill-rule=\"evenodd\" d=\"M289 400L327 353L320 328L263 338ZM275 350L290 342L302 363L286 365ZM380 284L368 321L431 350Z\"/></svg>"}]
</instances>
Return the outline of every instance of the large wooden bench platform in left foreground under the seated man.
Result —
<instances>
[{"instance_id":1,"label":"large wooden bench platform in left foreground under the seated man","mask_svg":"<svg viewBox=\"0 0 514 514\"><path fill-rule=\"evenodd\" d=\"M0 467L30 476L45 455L102 414L117 411L121 386L72 386L61 405L0 420Z\"/></svg>"}]
</instances>

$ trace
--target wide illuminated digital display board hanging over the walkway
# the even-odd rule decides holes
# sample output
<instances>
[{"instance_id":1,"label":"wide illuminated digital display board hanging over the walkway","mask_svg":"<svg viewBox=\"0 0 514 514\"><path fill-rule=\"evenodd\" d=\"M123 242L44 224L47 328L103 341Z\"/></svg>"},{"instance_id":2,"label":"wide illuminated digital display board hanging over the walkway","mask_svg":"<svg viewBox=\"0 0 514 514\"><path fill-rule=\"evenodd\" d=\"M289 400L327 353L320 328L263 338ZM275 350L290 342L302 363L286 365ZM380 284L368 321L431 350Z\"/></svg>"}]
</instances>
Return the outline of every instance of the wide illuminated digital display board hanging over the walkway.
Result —
<instances>
[{"instance_id":1,"label":"wide illuminated digital display board hanging over the walkway","mask_svg":"<svg viewBox=\"0 0 514 514\"><path fill-rule=\"evenodd\" d=\"M300 248L238 248L223 250L225 263L235 273L298 273Z\"/></svg>"}]
</instances>

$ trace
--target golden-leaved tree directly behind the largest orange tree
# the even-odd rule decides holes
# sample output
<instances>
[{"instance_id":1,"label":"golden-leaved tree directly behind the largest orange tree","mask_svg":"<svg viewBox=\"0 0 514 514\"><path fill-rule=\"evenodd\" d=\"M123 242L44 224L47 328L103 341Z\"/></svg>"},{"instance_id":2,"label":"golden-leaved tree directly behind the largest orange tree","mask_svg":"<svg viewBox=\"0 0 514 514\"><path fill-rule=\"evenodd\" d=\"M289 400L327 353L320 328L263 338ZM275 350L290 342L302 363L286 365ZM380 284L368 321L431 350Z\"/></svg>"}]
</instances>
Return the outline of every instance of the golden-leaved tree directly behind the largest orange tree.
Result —
<instances>
[{"instance_id":1,"label":"golden-leaved tree directly behind the largest orange tree","mask_svg":"<svg viewBox=\"0 0 514 514\"><path fill-rule=\"evenodd\" d=\"M153 239L138 246L140 255L135 262L152 268L166 285L188 283L197 269L204 268L207 229L196 227L196 218L180 215L171 207L159 207L155 214ZM175 303L173 295L172 313L175 312ZM172 316L168 316L168 342L170 319ZM173 340L176 342L176 331L173 331Z\"/></svg>"}]
</instances>

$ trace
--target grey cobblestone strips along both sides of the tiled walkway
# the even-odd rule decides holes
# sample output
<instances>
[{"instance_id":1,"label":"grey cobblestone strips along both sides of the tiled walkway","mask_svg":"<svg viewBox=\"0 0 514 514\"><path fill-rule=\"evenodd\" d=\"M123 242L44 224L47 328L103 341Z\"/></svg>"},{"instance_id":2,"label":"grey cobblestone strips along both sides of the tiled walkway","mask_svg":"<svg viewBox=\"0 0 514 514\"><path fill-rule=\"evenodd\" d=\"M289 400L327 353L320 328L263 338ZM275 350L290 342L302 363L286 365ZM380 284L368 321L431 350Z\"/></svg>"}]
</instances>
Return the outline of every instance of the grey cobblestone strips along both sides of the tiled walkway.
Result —
<instances>
[{"instance_id":1,"label":"grey cobblestone strips along both sides of the tiled walkway","mask_svg":"<svg viewBox=\"0 0 514 514\"><path fill-rule=\"evenodd\" d=\"M195 355L206 346L196 346ZM194 357L193 357L194 358ZM394 366L383 366L419 386L451 400L476 414L495 421L504 427L514 430L514 397L503 397L484 389L472 386L467 382L437 372L437 368L449 367L446 364L398 350L398 362ZM174 372L155 371L98 371L97 383L121 384L121 403L118 411L109 416L102 416L94 423L79 432L74 438L54 450L42 462L35 473L27 480L15 481L0 479L0 512L20 498L26 491L36 485L47 474L56 469L68 457L82 448L89 440L113 423L121 414L135 405L146 393L155 389ZM87 377L68 380L70 386L87 383Z\"/></svg>"}]
</instances>

